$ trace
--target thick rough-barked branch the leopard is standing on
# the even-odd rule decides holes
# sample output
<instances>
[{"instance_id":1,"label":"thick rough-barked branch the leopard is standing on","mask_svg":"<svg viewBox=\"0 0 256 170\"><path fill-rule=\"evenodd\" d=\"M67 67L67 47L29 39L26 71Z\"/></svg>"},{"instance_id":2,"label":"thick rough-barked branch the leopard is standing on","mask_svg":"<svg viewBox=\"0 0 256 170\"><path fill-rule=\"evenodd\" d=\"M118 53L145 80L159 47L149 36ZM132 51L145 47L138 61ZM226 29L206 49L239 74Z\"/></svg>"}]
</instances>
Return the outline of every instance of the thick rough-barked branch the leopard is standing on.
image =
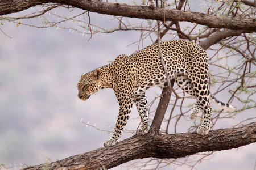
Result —
<instances>
[{"instance_id":1,"label":"thick rough-barked branch the leopard is standing on","mask_svg":"<svg viewBox=\"0 0 256 170\"><path fill-rule=\"evenodd\" d=\"M112 168L139 158L180 158L198 152L228 150L253 142L256 142L256 122L240 128L210 131L206 136L196 133L135 135L113 147L102 147L47 165L40 164L25 169Z\"/></svg>"}]
</instances>

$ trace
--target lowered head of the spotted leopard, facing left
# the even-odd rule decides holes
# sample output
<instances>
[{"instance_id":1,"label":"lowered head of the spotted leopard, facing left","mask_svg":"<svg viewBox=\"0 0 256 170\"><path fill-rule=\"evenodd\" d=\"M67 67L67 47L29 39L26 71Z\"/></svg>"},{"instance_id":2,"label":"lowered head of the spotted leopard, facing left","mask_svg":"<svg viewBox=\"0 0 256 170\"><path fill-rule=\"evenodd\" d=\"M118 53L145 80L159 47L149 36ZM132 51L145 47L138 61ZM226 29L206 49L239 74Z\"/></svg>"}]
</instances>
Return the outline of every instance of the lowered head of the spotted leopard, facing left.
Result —
<instances>
[{"instance_id":1,"label":"lowered head of the spotted leopard, facing left","mask_svg":"<svg viewBox=\"0 0 256 170\"><path fill-rule=\"evenodd\" d=\"M92 94L101 89L100 70L96 69L82 74L79 83L77 83L77 88L79 99L88 100Z\"/></svg>"}]
</instances>

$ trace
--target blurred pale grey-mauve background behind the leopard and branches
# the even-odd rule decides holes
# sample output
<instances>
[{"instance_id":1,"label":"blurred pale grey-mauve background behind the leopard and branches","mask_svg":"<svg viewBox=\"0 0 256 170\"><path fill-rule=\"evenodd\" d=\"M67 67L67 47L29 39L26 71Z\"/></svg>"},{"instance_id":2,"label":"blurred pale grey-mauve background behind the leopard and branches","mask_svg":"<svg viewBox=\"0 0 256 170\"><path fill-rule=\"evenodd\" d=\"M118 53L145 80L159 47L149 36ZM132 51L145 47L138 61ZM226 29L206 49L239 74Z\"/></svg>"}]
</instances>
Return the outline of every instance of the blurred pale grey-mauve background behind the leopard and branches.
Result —
<instances>
[{"instance_id":1,"label":"blurred pale grey-mauve background behind the leopard and branches","mask_svg":"<svg viewBox=\"0 0 256 170\"><path fill-rule=\"evenodd\" d=\"M28 14L38 8L18 14ZM198 8L201 6L191 6L194 11ZM63 16L71 16L70 10L57 8L56 11ZM79 13L81 10L75 8L72 12ZM47 17L54 16L48 14ZM131 20L141 22L139 19ZM90 22L109 28L115 24L112 16L92 12ZM30 19L26 23L40 25L42 19ZM67 24L72 26L74 23ZM73 29L40 29L6 21L0 28L4 32L0 32L0 164L4 164L0 169L52 162L102 147L102 143L112 135L119 109L117 99L112 89L106 89L86 102L80 101L77 98L77 82L81 74L108 64L119 54L133 54L151 45L152 41L145 39L143 46L134 43L141 36L135 31L98 33L90 39L89 35L82 35ZM161 91L159 87L148 90L149 103ZM225 97L222 99L226 101ZM156 105L157 102L152 108ZM236 120L222 121L214 129L231 128L251 114L255 113L250 111ZM138 117L136 108L133 108L121 140L133 135L130 131L137 129ZM187 132L193 125L193 121L183 123L184 126L179 125L179 133ZM197 156L191 158L197 159ZM114 169L137 169L133 165L143 161L135 160ZM214 152L196 168L255 169L255 163L256 143ZM129 167L130 164L133 165ZM166 169L174 167L170 165ZM145 168L150 169L150 165ZM177 169L191 167L184 165Z\"/></svg>"}]
</instances>

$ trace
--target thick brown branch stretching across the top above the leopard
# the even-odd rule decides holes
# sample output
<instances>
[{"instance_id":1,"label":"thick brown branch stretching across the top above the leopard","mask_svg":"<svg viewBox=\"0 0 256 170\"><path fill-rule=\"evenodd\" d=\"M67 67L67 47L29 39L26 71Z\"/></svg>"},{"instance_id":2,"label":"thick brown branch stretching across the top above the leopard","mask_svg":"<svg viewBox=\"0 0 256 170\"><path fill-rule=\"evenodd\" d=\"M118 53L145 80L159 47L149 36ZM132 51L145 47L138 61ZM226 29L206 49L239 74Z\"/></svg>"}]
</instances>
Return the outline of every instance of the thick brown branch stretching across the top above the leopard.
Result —
<instances>
[{"instance_id":1,"label":"thick brown branch stretching across the top above the leopard","mask_svg":"<svg viewBox=\"0 0 256 170\"><path fill-rule=\"evenodd\" d=\"M166 10L163 8L110 3L97 0L3 0L0 2L0 15L22 11L32 6L49 2L64 3L65 5L71 5L73 7L81 8L82 10L107 15L165 21L186 21L206 25L210 28L228 28L234 30L243 29L250 31L256 30L256 21L254 19L232 19L193 11Z\"/></svg>"}]
</instances>

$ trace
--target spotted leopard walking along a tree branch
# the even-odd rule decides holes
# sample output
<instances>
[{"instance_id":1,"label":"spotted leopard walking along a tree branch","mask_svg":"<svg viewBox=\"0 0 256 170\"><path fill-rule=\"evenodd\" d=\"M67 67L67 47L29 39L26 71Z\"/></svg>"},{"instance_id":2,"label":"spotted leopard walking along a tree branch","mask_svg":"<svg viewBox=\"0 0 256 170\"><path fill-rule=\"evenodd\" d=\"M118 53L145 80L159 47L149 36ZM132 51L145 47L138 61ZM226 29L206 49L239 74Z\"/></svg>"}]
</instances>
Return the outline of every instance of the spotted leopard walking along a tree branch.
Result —
<instances>
[{"instance_id":1,"label":"spotted leopard walking along a tree branch","mask_svg":"<svg viewBox=\"0 0 256 170\"><path fill-rule=\"evenodd\" d=\"M196 98L189 118L195 119L203 112L203 121L196 130L199 135L207 135L210 130L212 107L209 99L223 109L235 109L233 105L217 100L210 93L208 56L201 46L181 39L161 42L160 50L168 74L163 69L158 44L152 44L130 56L119 55L112 63L81 75L77 83L79 99L86 101L95 92L105 88L112 88L117 97L117 122L112 137L103 143L105 147L118 143L133 104L141 118L141 129L137 130L137 135L148 133L148 101L145 91L167 82L167 76L175 80L183 91Z\"/></svg>"}]
</instances>

